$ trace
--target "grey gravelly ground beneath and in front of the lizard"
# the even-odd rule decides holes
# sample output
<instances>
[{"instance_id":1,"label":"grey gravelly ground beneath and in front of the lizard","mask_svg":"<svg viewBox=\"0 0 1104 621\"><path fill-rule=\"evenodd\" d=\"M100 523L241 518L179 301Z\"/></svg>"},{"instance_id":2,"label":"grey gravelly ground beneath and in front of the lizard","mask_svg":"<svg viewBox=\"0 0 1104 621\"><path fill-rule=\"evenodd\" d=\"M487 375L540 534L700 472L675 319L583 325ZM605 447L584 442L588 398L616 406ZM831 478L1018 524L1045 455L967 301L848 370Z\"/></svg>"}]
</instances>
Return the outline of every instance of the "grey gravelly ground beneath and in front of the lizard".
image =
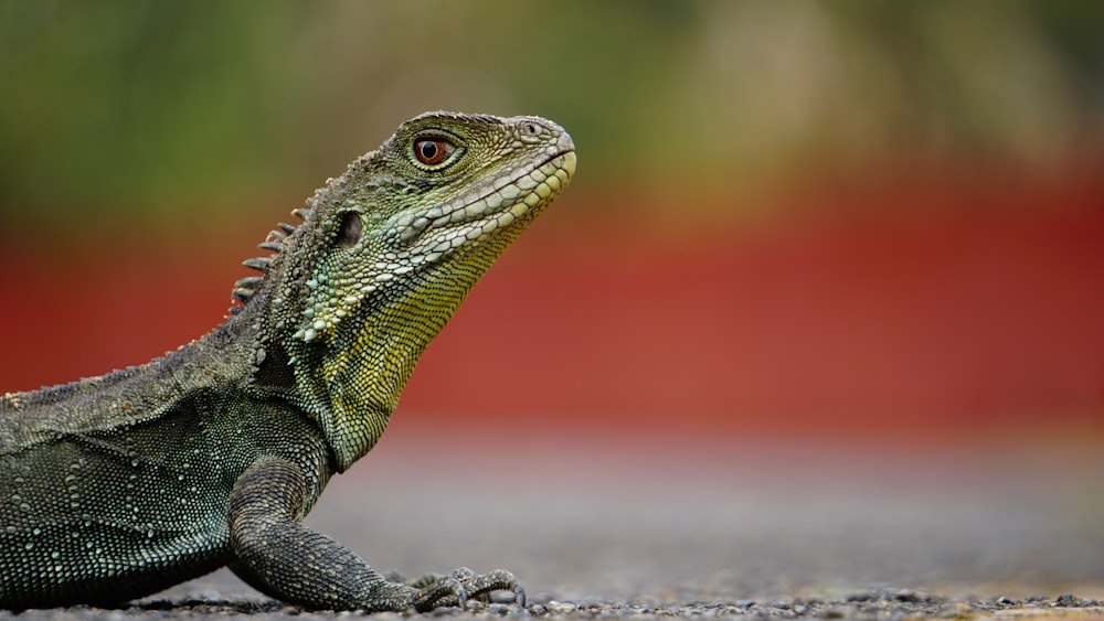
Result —
<instances>
[{"instance_id":1,"label":"grey gravelly ground beneath and in front of the lizard","mask_svg":"<svg viewBox=\"0 0 1104 621\"><path fill-rule=\"evenodd\" d=\"M1104 456L1093 447L672 454L386 440L331 483L308 523L381 569L502 567L529 593L526 609L496 600L429 615L1104 618ZM350 613L284 607L223 570L124 610L19 618L238 614Z\"/></svg>"}]
</instances>

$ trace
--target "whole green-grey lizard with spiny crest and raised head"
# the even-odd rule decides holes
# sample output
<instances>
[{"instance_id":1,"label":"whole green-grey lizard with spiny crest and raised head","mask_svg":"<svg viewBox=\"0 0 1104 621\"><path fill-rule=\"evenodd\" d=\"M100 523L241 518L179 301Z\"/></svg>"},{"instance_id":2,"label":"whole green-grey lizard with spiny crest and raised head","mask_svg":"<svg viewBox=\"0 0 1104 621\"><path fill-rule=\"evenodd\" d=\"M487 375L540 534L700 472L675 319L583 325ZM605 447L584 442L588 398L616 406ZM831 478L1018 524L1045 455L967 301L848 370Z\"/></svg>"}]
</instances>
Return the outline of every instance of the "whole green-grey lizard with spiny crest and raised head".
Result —
<instances>
[{"instance_id":1,"label":"whole green-grey lizard with spiny crest and raised head","mask_svg":"<svg viewBox=\"0 0 1104 621\"><path fill-rule=\"evenodd\" d=\"M560 194L540 117L426 113L293 211L206 335L147 364L0 397L0 609L119 606L229 566L308 609L426 611L524 590L404 582L302 518L380 439L414 365Z\"/></svg>"}]
</instances>

